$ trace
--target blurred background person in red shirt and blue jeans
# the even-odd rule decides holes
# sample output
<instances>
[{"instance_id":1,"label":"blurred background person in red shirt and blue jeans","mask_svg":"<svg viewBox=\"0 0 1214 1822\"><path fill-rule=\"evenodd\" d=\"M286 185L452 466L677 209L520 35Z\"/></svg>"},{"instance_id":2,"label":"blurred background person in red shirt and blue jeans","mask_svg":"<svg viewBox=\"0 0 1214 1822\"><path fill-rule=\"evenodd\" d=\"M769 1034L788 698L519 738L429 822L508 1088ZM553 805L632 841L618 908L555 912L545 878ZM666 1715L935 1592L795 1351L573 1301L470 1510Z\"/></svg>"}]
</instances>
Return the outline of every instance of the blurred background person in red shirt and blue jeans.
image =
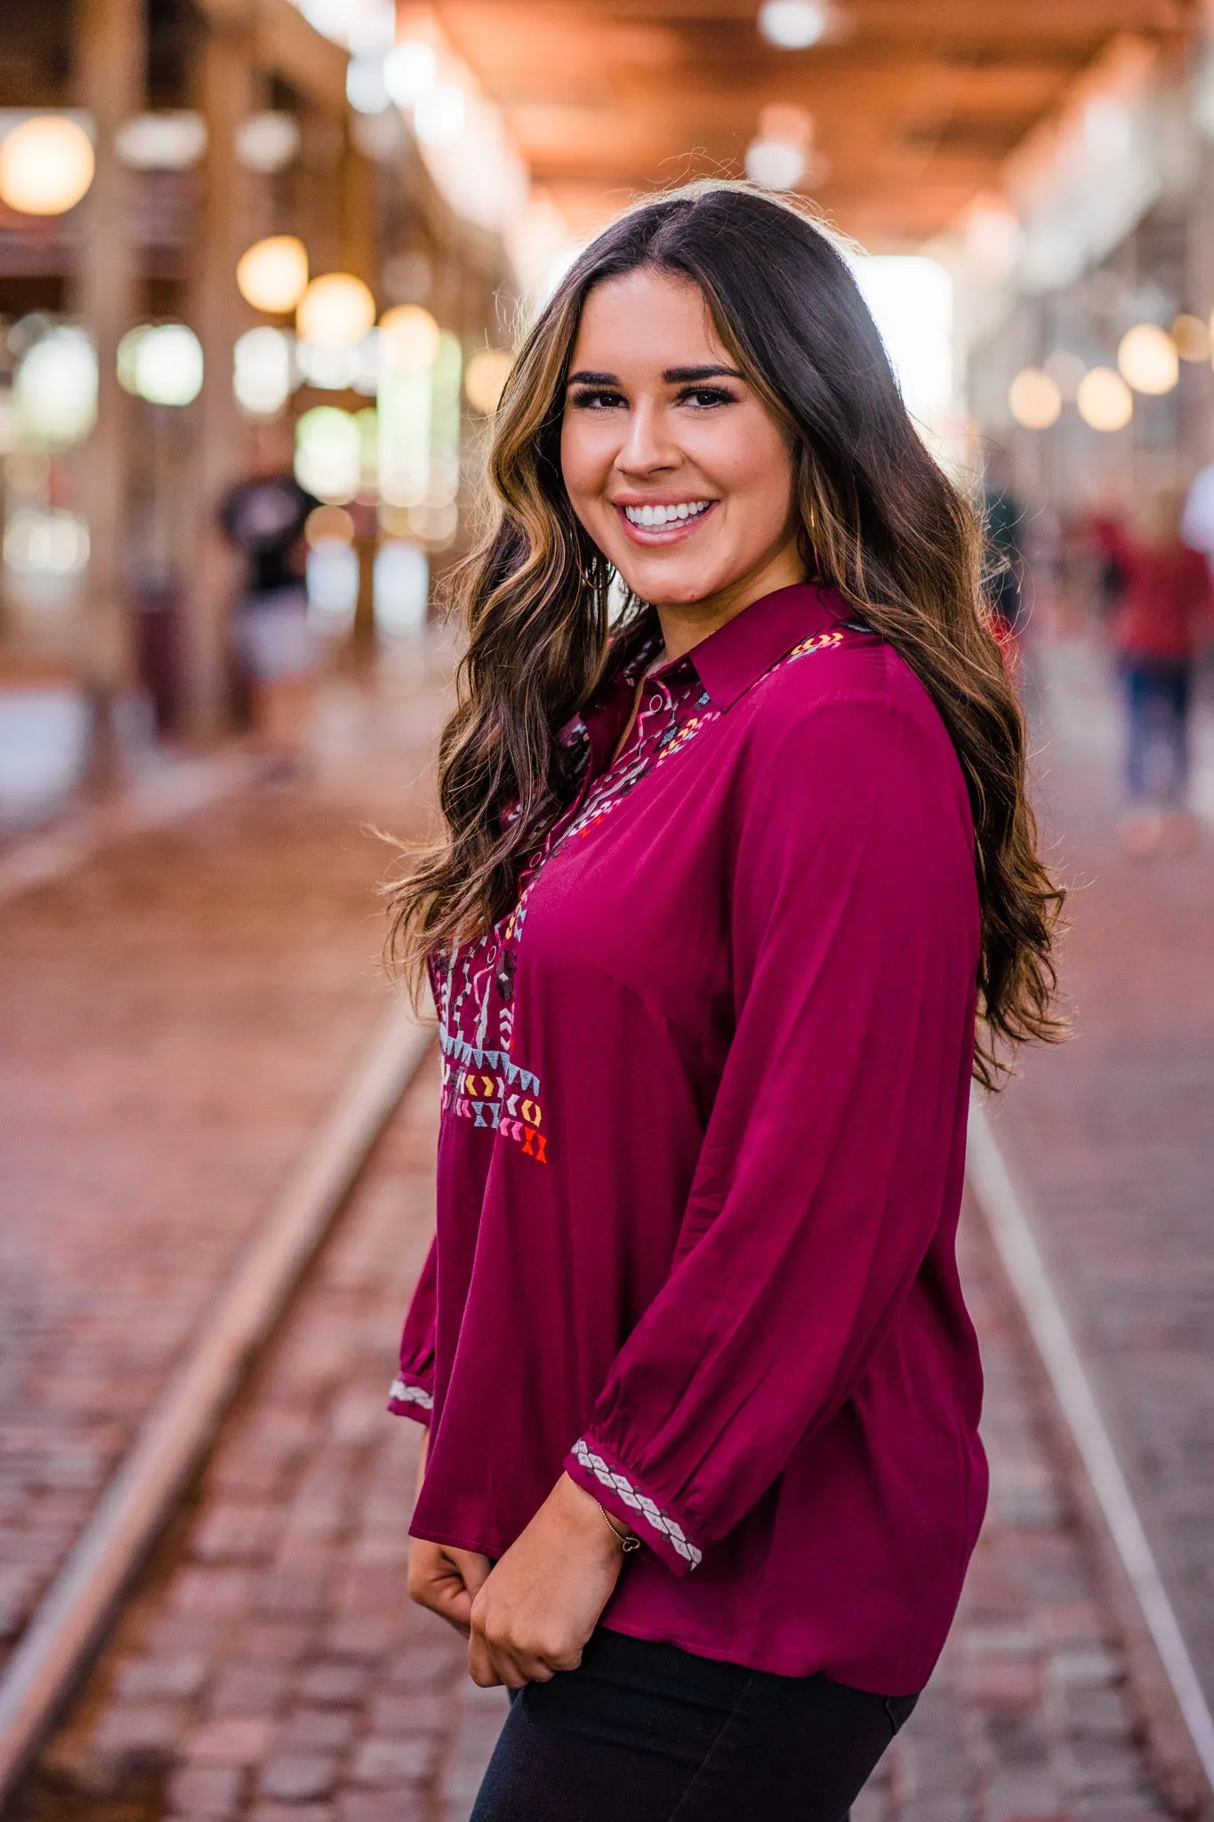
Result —
<instances>
[{"instance_id":1,"label":"blurred background person in red shirt and blue jeans","mask_svg":"<svg viewBox=\"0 0 1214 1822\"><path fill-rule=\"evenodd\" d=\"M1096 545L1118 578L1110 636L1121 661L1127 740L1128 853L1189 849L1189 711L1194 661L1210 632L1210 570L1181 537L1185 499L1154 494L1134 530L1110 514L1092 521Z\"/></svg>"}]
</instances>

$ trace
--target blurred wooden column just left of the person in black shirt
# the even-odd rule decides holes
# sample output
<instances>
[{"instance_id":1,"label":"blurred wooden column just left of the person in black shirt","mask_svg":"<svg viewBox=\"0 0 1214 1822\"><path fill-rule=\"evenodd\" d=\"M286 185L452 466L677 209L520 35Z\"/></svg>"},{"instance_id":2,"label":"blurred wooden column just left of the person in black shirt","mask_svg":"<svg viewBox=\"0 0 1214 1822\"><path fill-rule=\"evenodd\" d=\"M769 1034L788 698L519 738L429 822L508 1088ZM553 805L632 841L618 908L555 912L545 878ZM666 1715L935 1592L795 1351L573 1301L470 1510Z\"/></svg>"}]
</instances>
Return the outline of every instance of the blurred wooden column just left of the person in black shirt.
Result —
<instances>
[{"instance_id":1,"label":"blurred wooden column just left of the person in black shirt","mask_svg":"<svg viewBox=\"0 0 1214 1822\"><path fill-rule=\"evenodd\" d=\"M237 290L237 261L251 239L251 175L237 162L237 129L258 106L253 46L238 27L207 24L198 107L207 126L195 273L187 321L202 343L204 384L197 450L197 537L186 601L186 696L193 732L204 740L228 722L228 627L240 563L228 548L217 510L244 477L249 437L231 388L233 348L249 322Z\"/></svg>"}]
</instances>

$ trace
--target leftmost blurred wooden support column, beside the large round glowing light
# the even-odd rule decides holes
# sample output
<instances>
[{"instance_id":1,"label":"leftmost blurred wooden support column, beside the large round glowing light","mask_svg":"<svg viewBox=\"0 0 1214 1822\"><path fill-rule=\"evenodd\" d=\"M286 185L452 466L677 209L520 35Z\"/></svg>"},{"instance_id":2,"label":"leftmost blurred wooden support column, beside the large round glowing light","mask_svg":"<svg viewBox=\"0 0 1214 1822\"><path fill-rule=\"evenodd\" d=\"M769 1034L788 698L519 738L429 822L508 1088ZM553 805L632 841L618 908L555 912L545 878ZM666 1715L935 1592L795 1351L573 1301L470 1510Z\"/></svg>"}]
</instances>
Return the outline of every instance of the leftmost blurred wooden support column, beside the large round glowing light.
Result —
<instances>
[{"instance_id":1,"label":"leftmost blurred wooden support column, beside the large round glowing light","mask_svg":"<svg viewBox=\"0 0 1214 1822\"><path fill-rule=\"evenodd\" d=\"M131 401L118 386L118 343L135 322L138 264L131 173L115 137L144 106L146 0L75 0L75 89L96 126L96 175L86 204L73 304L96 346L96 428L80 452L80 503L89 523L82 667L93 703L89 778L115 782L120 756L113 707L131 678L133 638L126 574Z\"/></svg>"}]
</instances>

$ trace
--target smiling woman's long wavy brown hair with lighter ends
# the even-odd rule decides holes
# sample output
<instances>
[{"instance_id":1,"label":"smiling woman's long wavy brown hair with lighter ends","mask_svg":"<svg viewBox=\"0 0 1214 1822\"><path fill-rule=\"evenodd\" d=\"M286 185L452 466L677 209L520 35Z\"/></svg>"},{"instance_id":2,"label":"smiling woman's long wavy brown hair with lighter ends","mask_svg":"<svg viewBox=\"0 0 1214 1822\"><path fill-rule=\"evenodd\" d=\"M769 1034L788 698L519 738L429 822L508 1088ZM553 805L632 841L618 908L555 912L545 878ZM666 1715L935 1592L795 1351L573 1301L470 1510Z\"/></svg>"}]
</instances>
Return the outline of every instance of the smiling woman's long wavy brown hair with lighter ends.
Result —
<instances>
[{"instance_id":1,"label":"smiling woman's long wavy brown hair with lighter ends","mask_svg":"<svg viewBox=\"0 0 1214 1822\"><path fill-rule=\"evenodd\" d=\"M1052 1009L1063 893L1037 855L1025 720L990 630L981 527L916 434L832 237L744 184L690 184L630 210L573 262L522 343L493 426L495 516L453 585L468 645L439 745L444 834L388 887L389 960L420 993L435 947L513 906L526 856L572 796L557 731L644 612L628 598L610 640L612 574L561 479L582 304L641 266L699 286L721 343L790 434L806 572L901 652L948 727L976 831L974 1075L994 1088L1023 1039L1063 1031Z\"/></svg>"}]
</instances>

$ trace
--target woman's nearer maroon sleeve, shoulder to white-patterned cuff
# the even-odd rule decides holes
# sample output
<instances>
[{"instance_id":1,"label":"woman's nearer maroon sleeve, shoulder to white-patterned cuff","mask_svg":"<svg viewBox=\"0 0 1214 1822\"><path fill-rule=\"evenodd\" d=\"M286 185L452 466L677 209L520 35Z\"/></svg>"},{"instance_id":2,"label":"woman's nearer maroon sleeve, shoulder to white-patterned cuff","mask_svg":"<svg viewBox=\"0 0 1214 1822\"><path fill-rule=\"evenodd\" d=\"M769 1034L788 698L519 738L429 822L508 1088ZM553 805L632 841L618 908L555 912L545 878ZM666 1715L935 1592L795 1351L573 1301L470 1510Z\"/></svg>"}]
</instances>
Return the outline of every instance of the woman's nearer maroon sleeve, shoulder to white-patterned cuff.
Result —
<instances>
[{"instance_id":1,"label":"woman's nearer maroon sleeve, shoulder to white-patterned cuff","mask_svg":"<svg viewBox=\"0 0 1214 1822\"><path fill-rule=\"evenodd\" d=\"M670 1277L566 1470L677 1574L841 1410L956 1177L974 1037L968 802L943 727L825 700L755 762L733 1033Z\"/></svg>"}]
</instances>

